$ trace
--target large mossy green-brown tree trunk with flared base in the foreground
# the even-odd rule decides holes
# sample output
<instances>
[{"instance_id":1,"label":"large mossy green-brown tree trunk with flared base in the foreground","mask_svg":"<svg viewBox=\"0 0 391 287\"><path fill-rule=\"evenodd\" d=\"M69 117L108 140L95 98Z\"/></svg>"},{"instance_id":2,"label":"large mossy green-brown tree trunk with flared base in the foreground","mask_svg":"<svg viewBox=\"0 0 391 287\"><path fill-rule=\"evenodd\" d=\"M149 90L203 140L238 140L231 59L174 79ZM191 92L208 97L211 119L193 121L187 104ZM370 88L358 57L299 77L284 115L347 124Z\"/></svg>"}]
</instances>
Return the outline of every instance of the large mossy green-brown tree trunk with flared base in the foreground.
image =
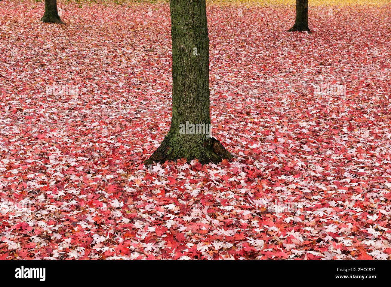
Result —
<instances>
[{"instance_id":1,"label":"large mossy green-brown tree trunk with flared base in the foreground","mask_svg":"<svg viewBox=\"0 0 391 287\"><path fill-rule=\"evenodd\" d=\"M186 158L202 164L233 156L217 139L184 134L185 125L210 127L209 37L205 0L170 0L172 37L172 119L160 147L145 161ZM181 130L181 131L180 131Z\"/></svg>"}]
</instances>

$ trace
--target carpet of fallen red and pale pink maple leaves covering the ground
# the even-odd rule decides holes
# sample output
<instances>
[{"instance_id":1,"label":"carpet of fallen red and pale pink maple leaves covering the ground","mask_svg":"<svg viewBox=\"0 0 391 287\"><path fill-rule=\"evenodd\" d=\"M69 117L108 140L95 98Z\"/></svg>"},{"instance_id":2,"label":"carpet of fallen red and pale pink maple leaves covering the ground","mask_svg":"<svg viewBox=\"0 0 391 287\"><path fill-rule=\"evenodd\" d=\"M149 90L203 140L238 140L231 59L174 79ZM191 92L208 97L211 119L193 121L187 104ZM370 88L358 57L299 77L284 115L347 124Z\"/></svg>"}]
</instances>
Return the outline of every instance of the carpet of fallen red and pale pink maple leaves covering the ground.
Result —
<instances>
[{"instance_id":1,"label":"carpet of fallen red and pale pink maple leaves covering the ground","mask_svg":"<svg viewBox=\"0 0 391 287\"><path fill-rule=\"evenodd\" d=\"M237 158L149 168L168 4L59 8L0 2L0 259L389 259L391 5L310 7L312 34L292 5L209 5L212 133Z\"/></svg>"}]
</instances>

